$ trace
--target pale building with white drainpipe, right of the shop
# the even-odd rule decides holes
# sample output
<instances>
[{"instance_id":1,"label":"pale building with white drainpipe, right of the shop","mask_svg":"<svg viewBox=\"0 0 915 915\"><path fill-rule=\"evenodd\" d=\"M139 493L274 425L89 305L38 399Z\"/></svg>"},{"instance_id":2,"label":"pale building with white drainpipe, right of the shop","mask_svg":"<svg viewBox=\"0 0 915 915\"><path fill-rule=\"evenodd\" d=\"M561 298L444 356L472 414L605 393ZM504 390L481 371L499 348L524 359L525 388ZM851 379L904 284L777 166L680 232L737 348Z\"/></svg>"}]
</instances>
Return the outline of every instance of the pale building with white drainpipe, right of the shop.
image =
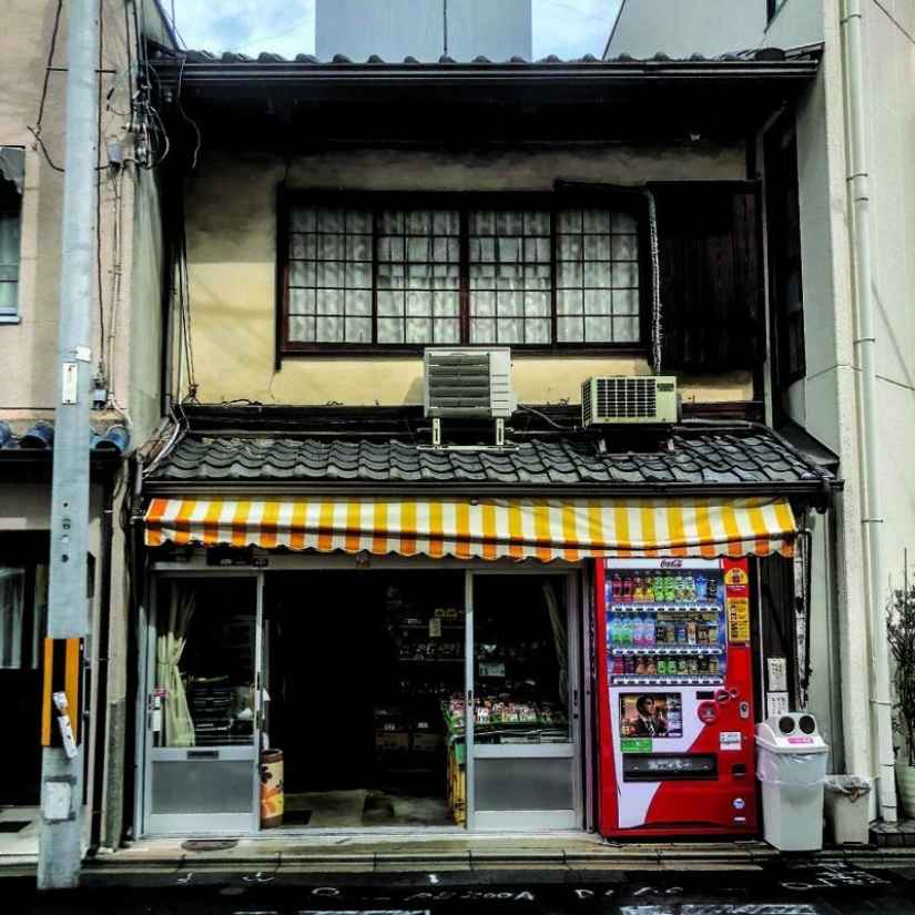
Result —
<instances>
[{"instance_id":1,"label":"pale building with white drainpipe, right of the shop","mask_svg":"<svg viewBox=\"0 0 915 915\"><path fill-rule=\"evenodd\" d=\"M609 59L630 50L627 16L631 30L644 14L639 32L667 34L668 4L660 18L653 6L624 4ZM767 416L828 446L847 481L833 525L814 537L809 708L834 771L875 779L871 815L893 821L885 614L892 591L908 581L915 542L915 9L760 0L765 28L730 42L706 28L719 3L681 8L692 18L672 40L678 51L683 42L712 55L748 45L823 49L815 81L761 124L755 142L766 201ZM660 41L655 50L670 52Z\"/></svg>"}]
</instances>

